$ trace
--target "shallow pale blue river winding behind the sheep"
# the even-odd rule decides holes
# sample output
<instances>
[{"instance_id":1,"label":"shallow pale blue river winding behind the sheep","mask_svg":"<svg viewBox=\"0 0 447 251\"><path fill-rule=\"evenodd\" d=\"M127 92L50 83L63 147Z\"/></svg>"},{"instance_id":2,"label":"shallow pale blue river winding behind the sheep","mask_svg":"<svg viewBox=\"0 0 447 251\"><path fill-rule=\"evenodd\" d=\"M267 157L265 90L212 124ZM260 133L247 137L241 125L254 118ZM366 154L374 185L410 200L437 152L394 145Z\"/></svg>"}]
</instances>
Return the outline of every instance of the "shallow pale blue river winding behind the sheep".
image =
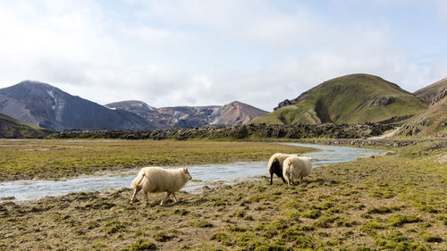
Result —
<instances>
[{"instance_id":1,"label":"shallow pale blue river winding behind the sheep","mask_svg":"<svg viewBox=\"0 0 447 251\"><path fill-rule=\"evenodd\" d=\"M319 151L305 154L312 157L314 167L328 163L355 161L371 155L383 155L387 151L347 146L325 146L314 144L286 144L305 146ZM225 164L204 164L188 166L192 179L184 191L198 193L204 186L234 184L241 180L254 180L267 176L268 160L264 162L241 162ZM94 175L69 180L15 180L0 183L0 198L14 197L14 201L36 200L40 197L59 196L72 192L104 191L130 188L131 180L139 170L126 172L98 172ZM277 180L276 180L277 181Z\"/></svg>"}]
</instances>

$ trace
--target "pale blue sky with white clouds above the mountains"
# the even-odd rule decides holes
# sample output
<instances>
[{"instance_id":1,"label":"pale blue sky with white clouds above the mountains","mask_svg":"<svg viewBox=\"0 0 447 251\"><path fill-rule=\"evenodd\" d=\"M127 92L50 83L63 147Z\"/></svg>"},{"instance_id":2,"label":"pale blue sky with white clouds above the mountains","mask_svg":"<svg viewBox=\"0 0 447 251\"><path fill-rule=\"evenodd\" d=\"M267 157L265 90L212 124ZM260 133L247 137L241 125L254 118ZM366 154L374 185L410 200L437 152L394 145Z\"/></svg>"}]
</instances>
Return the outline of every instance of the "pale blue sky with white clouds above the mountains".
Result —
<instances>
[{"instance_id":1,"label":"pale blue sky with white clouds above the mountains","mask_svg":"<svg viewBox=\"0 0 447 251\"><path fill-rule=\"evenodd\" d=\"M351 73L424 88L446 41L444 0L0 0L0 88L272 111Z\"/></svg>"}]
</instances>

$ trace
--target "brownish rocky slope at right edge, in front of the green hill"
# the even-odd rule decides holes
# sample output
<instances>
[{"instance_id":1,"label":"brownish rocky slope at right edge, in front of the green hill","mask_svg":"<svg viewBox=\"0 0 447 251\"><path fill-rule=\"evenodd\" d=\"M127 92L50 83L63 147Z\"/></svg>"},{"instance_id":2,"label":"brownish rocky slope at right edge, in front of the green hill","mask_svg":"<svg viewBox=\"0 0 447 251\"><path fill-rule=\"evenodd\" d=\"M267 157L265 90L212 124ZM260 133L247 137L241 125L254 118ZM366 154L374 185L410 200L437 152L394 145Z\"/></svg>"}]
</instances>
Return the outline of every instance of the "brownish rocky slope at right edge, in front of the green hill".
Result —
<instances>
[{"instance_id":1,"label":"brownish rocky slope at right edge, in front of the green hill","mask_svg":"<svg viewBox=\"0 0 447 251\"><path fill-rule=\"evenodd\" d=\"M425 113L401 126L399 135L416 137L447 137L447 87L432 99Z\"/></svg>"}]
</instances>

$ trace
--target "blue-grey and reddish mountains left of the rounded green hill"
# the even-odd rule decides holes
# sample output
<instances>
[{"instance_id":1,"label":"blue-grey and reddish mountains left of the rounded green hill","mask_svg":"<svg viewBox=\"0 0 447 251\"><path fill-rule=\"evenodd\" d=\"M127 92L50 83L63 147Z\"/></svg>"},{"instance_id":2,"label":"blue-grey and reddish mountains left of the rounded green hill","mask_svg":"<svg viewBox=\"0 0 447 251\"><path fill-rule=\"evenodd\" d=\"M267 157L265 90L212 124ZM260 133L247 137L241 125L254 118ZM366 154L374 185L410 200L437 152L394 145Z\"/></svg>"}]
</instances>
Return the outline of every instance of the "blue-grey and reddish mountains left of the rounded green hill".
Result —
<instances>
[{"instance_id":1,"label":"blue-grey and reddish mountains left of the rounded green hill","mask_svg":"<svg viewBox=\"0 0 447 251\"><path fill-rule=\"evenodd\" d=\"M267 113L251 105L155 108L140 101L99 105L46 83L0 89L0 113L47 130L154 130L232 125Z\"/></svg>"}]
</instances>

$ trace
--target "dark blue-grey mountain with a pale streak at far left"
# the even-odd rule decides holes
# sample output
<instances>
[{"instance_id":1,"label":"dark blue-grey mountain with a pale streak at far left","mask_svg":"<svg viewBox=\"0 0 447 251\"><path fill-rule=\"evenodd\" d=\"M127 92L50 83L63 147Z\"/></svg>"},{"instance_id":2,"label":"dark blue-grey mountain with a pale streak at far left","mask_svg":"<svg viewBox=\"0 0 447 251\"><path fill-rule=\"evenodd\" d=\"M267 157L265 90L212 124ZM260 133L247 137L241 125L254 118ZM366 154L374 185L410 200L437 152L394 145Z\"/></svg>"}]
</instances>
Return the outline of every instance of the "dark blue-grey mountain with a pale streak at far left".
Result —
<instances>
[{"instance_id":1,"label":"dark blue-grey mountain with a pale streak at far left","mask_svg":"<svg viewBox=\"0 0 447 251\"><path fill-rule=\"evenodd\" d=\"M46 83L30 80L0 89L0 113L49 130L154 128L135 113L114 111Z\"/></svg>"}]
</instances>

